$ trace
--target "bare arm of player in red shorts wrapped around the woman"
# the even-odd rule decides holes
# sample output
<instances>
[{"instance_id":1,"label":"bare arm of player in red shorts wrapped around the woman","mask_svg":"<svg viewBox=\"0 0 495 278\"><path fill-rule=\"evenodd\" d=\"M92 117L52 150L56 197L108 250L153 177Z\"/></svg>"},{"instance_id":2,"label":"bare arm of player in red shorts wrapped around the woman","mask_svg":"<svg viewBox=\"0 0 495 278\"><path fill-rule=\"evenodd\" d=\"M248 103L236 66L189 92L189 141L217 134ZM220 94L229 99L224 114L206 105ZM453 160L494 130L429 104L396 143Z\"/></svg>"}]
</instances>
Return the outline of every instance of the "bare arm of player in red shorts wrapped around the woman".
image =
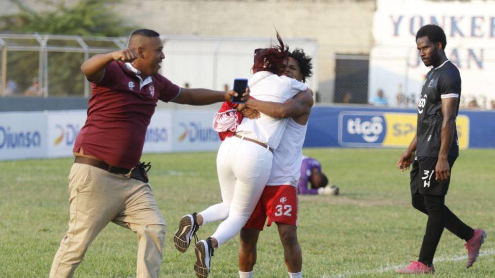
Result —
<instances>
[{"instance_id":1,"label":"bare arm of player in red shorts wrapped around the woman","mask_svg":"<svg viewBox=\"0 0 495 278\"><path fill-rule=\"evenodd\" d=\"M308 91L297 93L293 99L284 103L249 99L246 106L272 118L290 118L309 114L313 106L313 97L308 89Z\"/></svg>"}]
</instances>

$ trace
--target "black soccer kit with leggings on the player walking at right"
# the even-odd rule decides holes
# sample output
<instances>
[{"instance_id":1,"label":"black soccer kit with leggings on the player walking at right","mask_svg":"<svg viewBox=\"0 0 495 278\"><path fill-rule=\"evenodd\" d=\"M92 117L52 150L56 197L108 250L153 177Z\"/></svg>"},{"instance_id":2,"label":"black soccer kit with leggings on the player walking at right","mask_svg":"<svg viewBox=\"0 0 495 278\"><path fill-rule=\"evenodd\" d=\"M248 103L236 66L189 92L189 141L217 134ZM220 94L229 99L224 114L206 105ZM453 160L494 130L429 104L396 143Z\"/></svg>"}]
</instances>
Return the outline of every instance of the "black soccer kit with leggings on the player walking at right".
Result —
<instances>
[{"instance_id":1,"label":"black soccer kit with leggings on the player walking at right","mask_svg":"<svg viewBox=\"0 0 495 278\"><path fill-rule=\"evenodd\" d=\"M423 83L418 104L417 148L411 169L412 205L428 215L426 232L421 245L419 261L433 263L433 257L444 228L457 237L468 240L474 236L472 228L464 224L445 205L450 178L439 182L435 179L435 166L440 152L442 131L442 99L461 95L459 70L450 62L432 69ZM459 112L457 101L456 115ZM457 129L454 127L452 145L448 153L450 170L459 156Z\"/></svg>"}]
</instances>

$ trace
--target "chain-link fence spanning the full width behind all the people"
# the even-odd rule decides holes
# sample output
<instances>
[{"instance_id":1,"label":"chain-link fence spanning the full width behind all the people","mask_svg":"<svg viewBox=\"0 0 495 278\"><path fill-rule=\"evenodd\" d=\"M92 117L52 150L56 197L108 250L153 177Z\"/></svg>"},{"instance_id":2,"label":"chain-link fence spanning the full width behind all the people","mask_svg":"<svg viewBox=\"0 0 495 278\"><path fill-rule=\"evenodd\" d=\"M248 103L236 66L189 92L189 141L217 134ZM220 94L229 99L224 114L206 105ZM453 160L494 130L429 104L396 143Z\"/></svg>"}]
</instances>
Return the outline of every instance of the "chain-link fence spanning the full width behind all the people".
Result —
<instances>
[{"instance_id":1,"label":"chain-link fence spanning the full width behind all the people","mask_svg":"<svg viewBox=\"0 0 495 278\"><path fill-rule=\"evenodd\" d=\"M81 38L56 35L0 34L1 96L90 95L81 64L97 53L126 46L127 38ZM253 49L266 38L201 38L163 36L165 60L161 73L182 87L232 88L236 78L251 75ZM291 50L304 49L313 58L313 77L306 80L317 102L413 108L426 73L417 50L375 46L364 53L319 56L314 40L287 39ZM495 57L491 49L447 53L462 77L462 108L495 108ZM366 53L369 52L369 53ZM466 52L467 55L458 53ZM358 52L359 53L359 52Z\"/></svg>"}]
</instances>

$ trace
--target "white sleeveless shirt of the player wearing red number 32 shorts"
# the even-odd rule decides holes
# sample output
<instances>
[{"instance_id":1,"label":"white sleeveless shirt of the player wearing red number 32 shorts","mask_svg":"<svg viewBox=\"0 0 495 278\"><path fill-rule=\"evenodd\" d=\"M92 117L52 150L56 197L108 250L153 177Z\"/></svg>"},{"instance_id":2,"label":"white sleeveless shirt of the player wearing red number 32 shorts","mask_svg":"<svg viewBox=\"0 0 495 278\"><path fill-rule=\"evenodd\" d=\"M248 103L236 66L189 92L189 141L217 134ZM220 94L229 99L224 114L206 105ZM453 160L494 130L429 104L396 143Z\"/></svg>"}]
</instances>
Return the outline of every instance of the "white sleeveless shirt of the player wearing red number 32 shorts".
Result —
<instances>
[{"instance_id":1,"label":"white sleeveless shirt of the player wearing red number 32 shorts","mask_svg":"<svg viewBox=\"0 0 495 278\"><path fill-rule=\"evenodd\" d=\"M273 163L267 186L292 185L297 187L301 175L302 144L306 138L307 123L298 124L290 118L287 122L282 141L273 152Z\"/></svg>"}]
</instances>

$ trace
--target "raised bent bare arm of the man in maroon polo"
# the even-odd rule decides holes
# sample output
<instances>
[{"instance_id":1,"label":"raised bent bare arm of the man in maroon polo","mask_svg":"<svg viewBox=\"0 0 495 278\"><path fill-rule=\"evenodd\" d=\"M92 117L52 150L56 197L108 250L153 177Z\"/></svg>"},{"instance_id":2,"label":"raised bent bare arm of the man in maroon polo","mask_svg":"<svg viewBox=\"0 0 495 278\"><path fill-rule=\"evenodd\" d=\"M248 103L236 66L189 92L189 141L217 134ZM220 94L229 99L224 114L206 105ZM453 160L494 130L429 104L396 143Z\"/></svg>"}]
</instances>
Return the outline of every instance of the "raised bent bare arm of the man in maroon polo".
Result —
<instances>
[{"instance_id":1,"label":"raised bent bare arm of the man in maroon polo","mask_svg":"<svg viewBox=\"0 0 495 278\"><path fill-rule=\"evenodd\" d=\"M132 62L138 56L134 50L127 48L110 53L97 54L81 65L81 71L90 81L98 81L105 74L105 66L112 61Z\"/></svg>"}]
</instances>

